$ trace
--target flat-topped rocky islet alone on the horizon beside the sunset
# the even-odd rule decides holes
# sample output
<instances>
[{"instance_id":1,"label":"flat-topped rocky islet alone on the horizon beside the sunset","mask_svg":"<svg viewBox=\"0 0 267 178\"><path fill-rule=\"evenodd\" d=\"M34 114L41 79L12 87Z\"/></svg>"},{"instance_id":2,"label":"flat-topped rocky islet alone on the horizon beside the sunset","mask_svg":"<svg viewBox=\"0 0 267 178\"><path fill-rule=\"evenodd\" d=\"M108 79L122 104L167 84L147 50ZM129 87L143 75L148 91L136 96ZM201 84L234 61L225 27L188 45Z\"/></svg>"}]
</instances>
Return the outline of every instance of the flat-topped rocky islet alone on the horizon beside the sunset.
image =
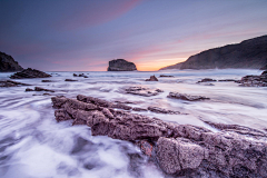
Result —
<instances>
[{"instance_id":1,"label":"flat-topped rocky islet alone on the horizon beside the sunset","mask_svg":"<svg viewBox=\"0 0 267 178\"><path fill-rule=\"evenodd\" d=\"M116 59L109 61L108 71L134 71L137 70L136 65L125 59Z\"/></svg>"}]
</instances>

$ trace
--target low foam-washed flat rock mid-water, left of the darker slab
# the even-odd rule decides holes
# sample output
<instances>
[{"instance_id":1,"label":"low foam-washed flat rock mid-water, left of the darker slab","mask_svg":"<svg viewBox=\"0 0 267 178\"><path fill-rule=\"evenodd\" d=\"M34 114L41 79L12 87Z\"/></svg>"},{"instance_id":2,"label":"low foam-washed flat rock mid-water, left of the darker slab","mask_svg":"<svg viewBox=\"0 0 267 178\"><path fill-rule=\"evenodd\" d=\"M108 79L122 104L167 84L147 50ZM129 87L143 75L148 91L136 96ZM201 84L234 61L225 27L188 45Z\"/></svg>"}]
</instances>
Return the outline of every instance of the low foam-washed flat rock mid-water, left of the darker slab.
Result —
<instances>
[{"instance_id":1,"label":"low foam-washed flat rock mid-water, left of the darker slab","mask_svg":"<svg viewBox=\"0 0 267 178\"><path fill-rule=\"evenodd\" d=\"M151 97L151 96L157 96L160 92L164 92L164 90L160 90L160 89L152 90L152 89L144 88L144 87L129 87L129 88L123 89L123 92L144 96L144 97Z\"/></svg>"}]
</instances>

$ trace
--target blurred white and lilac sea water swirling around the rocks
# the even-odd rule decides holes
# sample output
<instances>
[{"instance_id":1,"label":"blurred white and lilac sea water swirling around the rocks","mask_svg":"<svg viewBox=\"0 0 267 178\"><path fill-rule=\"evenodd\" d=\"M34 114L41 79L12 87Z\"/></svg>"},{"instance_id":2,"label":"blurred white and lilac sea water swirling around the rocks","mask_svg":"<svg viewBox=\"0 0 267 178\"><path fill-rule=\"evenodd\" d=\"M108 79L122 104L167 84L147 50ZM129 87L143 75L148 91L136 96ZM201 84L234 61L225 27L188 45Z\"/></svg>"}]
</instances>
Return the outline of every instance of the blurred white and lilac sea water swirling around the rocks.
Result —
<instances>
[{"instance_id":1,"label":"blurred white and lilac sea water swirling around the rocks","mask_svg":"<svg viewBox=\"0 0 267 178\"><path fill-rule=\"evenodd\" d=\"M131 101L132 107L160 107L188 115L136 112L165 121L189 123L216 129L206 121L241 125L256 129L267 128L267 88L239 87L236 82L196 83L204 78L240 79L246 75L260 75L260 70L166 70L155 72L48 72L48 80L18 79L27 87L0 88L0 177L1 178L160 178L166 175L131 142L106 136L92 137L87 126L71 126L71 121L57 122L52 96L76 98L77 95L108 101ZM73 77L85 73L88 78ZM0 73L0 80L12 73ZM150 76L174 76L145 81ZM65 79L78 81L68 82ZM51 96L42 91L26 92L36 86L55 90ZM161 89L154 97L127 95L127 87ZM171 91L205 96L210 100L184 101L167 98Z\"/></svg>"}]
</instances>

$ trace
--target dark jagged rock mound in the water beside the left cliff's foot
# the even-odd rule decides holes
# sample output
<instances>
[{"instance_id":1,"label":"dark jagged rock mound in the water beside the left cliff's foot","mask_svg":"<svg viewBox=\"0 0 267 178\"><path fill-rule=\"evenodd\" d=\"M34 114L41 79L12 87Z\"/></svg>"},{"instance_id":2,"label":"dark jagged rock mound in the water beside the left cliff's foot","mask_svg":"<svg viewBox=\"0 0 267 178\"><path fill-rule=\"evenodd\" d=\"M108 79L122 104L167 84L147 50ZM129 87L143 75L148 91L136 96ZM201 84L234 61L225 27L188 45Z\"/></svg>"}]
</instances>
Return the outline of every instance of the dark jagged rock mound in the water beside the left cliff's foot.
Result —
<instances>
[{"instance_id":1,"label":"dark jagged rock mound in the water beside the left cliff's foot","mask_svg":"<svg viewBox=\"0 0 267 178\"><path fill-rule=\"evenodd\" d=\"M24 69L20 72L13 73L10 78L11 79L26 79L26 78L48 78L52 77L43 71L36 70L36 69Z\"/></svg>"}]
</instances>

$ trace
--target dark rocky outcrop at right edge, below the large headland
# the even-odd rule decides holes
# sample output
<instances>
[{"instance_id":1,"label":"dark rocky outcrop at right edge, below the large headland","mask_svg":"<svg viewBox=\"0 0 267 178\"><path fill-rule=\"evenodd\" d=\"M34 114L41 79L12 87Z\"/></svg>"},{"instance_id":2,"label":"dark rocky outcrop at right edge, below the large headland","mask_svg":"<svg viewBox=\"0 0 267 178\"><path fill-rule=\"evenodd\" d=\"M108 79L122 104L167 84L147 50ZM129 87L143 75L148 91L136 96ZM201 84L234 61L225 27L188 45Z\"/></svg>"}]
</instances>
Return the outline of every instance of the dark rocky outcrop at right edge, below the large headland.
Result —
<instances>
[{"instance_id":1,"label":"dark rocky outcrop at right edge, below the large headland","mask_svg":"<svg viewBox=\"0 0 267 178\"><path fill-rule=\"evenodd\" d=\"M260 76L245 76L236 82L241 87L267 87L267 70Z\"/></svg>"}]
</instances>

